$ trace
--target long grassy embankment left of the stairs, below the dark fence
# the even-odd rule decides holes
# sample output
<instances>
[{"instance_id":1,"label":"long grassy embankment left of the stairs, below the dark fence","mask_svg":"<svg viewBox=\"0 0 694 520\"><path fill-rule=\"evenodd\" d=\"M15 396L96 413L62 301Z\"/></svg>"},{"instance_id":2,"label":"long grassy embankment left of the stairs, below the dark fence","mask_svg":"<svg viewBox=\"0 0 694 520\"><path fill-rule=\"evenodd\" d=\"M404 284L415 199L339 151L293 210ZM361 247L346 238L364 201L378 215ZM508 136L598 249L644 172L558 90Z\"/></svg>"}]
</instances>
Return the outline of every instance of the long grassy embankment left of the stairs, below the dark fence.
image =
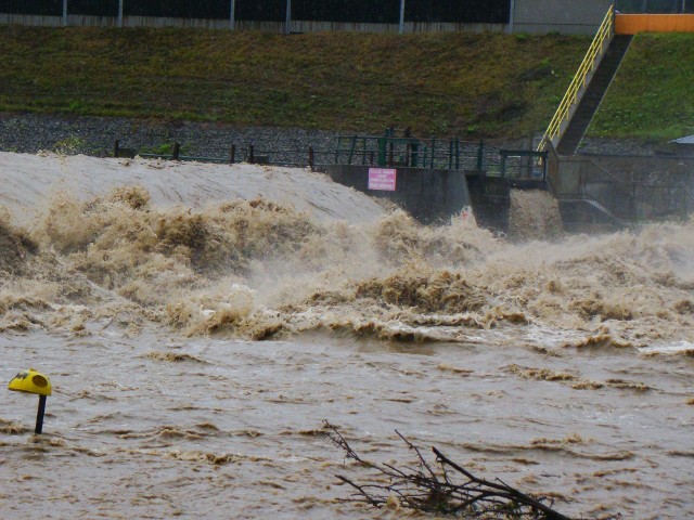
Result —
<instances>
[{"instance_id":1,"label":"long grassy embankment left of the stairs, below the dark fence","mask_svg":"<svg viewBox=\"0 0 694 520\"><path fill-rule=\"evenodd\" d=\"M526 136L590 38L0 27L0 110Z\"/></svg>"}]
</instances>

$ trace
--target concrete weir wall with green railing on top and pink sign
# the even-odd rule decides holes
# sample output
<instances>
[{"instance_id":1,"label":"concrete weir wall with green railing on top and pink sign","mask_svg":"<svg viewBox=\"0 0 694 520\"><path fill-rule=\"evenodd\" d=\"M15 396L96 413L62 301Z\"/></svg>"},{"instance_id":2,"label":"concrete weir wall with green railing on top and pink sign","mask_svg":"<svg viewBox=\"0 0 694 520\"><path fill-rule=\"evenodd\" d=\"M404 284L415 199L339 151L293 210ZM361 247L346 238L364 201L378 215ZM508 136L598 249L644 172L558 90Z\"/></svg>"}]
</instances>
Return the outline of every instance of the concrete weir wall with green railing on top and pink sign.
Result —
<instances>
[{"instance_id":1,"label":"concrete weir wall with green railing on top and pink sign","mask_svg":"<svg viewBox=\"0 0 694 520\"><path fill-rule=\"evenodd\" d=\"M466 218L509 231L511 190L547 190L547 152L500 150L458 138L419 139L409 129L337 139L335 182L386 198L424 224ZM387 179L387 182L375 182Z\"/></svg>"}]
</instances>

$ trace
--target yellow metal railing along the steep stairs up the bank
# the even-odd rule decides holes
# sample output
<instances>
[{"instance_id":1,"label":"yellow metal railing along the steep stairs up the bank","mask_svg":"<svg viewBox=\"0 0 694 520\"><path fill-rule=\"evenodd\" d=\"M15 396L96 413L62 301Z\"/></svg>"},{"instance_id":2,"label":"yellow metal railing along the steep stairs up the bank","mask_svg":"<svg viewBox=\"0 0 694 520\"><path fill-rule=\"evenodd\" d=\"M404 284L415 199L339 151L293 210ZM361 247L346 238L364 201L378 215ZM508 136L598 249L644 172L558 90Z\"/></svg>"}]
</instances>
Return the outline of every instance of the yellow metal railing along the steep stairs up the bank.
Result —
<instances>
[{"instance_id":1,"label":"yellow metal railing along the steep stairs up the bank","mask_svg":"<svg viewBox=\"0 0 694 520\"><path fill-rule=\"evenodd\" d=\"M593 42L581 62L581 65L578 67L576 76L574 76L574 79L568 86L558 108L554 113L554 117L550 121L550 125L542 136L542 141L540 141L540 144L538 145L538 152L544 152L549 141L554 142L555 138L562 135L562 123L570 118L571 108L578 103L578 101L580 101L578 98L579 92L588 82L588 75L595 68L597 58L604 54L606 50L605 42L609 42L609 40L612 40L614 35L614 5L611 5L607 10L607 14L605 14L603 23L597 29L597 34L595 35Z\"/></svg>"}]
</instances>

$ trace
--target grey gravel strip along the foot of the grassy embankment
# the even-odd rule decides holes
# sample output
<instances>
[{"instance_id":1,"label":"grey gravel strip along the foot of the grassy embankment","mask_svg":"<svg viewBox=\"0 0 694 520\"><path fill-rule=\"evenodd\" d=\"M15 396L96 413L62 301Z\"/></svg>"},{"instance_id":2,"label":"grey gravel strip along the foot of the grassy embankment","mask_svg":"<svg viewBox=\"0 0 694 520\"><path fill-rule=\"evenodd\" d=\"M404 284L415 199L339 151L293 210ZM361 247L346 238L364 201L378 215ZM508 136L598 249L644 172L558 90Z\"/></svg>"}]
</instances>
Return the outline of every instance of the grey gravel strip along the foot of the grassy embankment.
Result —
<instances>
[{"instance_id":1,"label":"grey gravel strip along the foot of the grassy embankment","mask_svg":"<svg viewBox=\"0 0 694 520\"><path fill-rule=\"evenodd\" d=\"M347 132L345 132L347 133ZM68 117L44 114L0 114L0 152L35 154L41 150L65 155L104 157L120 146L140 153L170 153L174 142L181 154L229 157L236 146L236 161L245 158L249 144L255 155L269 155L274 161L308 164L308 148L332 151L338 132L300 128L234 127L210 122L162 122L126 118ZM498 147L517 148L520 141L494 142ZM297 151L288 154L268 151ZM586 139L583 154L652 155L653 146L634 140ZM316 156L318 164L330 162L332 154Z\"/></svg>"}]
</instances>

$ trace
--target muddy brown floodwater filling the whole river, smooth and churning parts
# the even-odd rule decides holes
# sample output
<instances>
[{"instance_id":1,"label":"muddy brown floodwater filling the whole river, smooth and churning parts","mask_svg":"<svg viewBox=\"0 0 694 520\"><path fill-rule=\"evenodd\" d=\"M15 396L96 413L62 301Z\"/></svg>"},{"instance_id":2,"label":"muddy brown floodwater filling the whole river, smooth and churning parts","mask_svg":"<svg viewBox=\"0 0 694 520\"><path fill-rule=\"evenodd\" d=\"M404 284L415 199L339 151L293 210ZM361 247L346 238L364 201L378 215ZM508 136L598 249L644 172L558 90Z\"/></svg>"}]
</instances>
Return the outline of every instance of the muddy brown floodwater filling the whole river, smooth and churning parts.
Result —
<instances>
[{"instance_id":1,"label":"muddy brown floodwater filling the whole river, smooth and churning parts","mask_svg":"<svg viewBox=\"0 0 694 520\"><path fill-rule=\"evenodd\" d=\"M413 515L344 502L335 474L370 476L323 420L566 515L694 516L693 222L562 236L518 193L506 238L304 170L0 172L2 376L54 387L42 435L33 396L0 398L2 518Z\"/></svg>"}]
</instances>

